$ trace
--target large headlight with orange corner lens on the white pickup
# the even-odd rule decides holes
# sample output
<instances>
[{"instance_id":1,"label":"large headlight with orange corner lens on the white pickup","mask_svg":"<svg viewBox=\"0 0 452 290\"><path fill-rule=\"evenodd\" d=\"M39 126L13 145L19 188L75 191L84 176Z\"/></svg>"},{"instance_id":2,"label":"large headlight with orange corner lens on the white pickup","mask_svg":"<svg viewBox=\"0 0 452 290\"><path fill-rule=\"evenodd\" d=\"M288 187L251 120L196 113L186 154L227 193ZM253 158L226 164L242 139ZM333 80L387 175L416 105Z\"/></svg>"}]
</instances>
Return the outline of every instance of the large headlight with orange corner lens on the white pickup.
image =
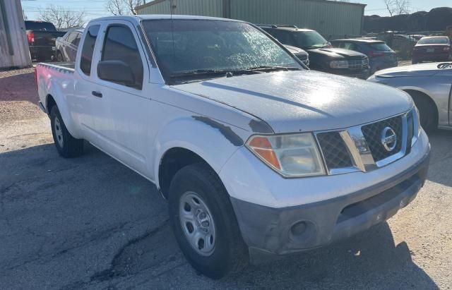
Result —
<instances>
[{"instance_id":1,"label":"large headlight with orange corner lens on the white pickup","mask_svg":"<svg viewBox=\"0 0 452 290\"><path fill-rule=\"evenodd\" d=\"M254 135L246 142L246 147L285 177L325 174L319 149L311 133Z\"/></svg>"}]
</instances>

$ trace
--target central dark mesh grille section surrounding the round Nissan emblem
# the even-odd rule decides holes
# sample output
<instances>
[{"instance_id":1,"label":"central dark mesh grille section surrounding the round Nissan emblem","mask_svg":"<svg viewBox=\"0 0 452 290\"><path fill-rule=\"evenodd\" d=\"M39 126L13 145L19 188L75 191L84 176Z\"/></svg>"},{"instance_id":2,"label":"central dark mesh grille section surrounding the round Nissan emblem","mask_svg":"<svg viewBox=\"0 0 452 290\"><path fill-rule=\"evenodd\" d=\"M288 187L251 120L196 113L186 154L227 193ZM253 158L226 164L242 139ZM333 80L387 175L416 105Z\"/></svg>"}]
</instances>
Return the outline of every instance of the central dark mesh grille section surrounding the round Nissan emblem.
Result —
<instances>
[{"instance_id":1,"label":"central dark mesh grille section surrounding the round Nissan emblem","mask_svg":"<svg viewBox=\"0 0 452 290\"><path fill-rule=\"evenodd\" d=\"M381 133L386 127L392 128L397 135L396 147L391 151L387 151L381 143ZM362 126L361 130L364 138L366 138L367 145L369 146L375 162L379 162L380 160L383 160L390 157L391 155L400 152L400 150L402 149L402 143L405 142L405 140L403 140L402 116L396 116L390 119Z\"/></svg>"}]
</instances>

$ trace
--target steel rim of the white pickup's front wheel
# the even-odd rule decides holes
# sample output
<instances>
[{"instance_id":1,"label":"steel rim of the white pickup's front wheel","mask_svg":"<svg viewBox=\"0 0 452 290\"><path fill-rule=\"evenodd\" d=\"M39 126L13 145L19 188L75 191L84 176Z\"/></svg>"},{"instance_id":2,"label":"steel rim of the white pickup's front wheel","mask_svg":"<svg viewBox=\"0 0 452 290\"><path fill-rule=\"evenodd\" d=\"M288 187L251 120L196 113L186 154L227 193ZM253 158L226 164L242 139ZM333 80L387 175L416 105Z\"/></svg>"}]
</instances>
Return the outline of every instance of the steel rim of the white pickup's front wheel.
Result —
<instances>
[{"instance_id":1,"label":"steel rim of the white pickup's front wheel","mask_svg":"<svg viewBox=\"0 0 452 290\"><path fill-rule=\"evenodd\" d=\"M199 255L212 255L216 243L215 222L197 193L188 191L180 198L179 222L191 248Z\"/></svg>"}]
</instances>

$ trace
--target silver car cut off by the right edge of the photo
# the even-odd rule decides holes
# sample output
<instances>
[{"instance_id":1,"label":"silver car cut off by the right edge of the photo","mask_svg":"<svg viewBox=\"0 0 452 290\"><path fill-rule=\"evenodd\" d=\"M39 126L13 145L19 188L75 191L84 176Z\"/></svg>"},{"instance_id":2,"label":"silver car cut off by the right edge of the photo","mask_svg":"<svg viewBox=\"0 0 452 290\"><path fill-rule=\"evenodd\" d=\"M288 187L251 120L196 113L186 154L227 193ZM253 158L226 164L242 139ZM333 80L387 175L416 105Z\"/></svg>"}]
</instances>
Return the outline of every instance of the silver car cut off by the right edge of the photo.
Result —
<instances>
[{"instance_id":1,"label":"silver car cut off by the right edge of the photo","mask_svg":"<svg viewBox=\"0 0 452 290\"><path fill-rule=\"evenodd\" d=\"M417 64L388 68L369 78L374 83L397 87L411 95L427 132L452 128L452 63Z\"/></svg>"}]
</instances>

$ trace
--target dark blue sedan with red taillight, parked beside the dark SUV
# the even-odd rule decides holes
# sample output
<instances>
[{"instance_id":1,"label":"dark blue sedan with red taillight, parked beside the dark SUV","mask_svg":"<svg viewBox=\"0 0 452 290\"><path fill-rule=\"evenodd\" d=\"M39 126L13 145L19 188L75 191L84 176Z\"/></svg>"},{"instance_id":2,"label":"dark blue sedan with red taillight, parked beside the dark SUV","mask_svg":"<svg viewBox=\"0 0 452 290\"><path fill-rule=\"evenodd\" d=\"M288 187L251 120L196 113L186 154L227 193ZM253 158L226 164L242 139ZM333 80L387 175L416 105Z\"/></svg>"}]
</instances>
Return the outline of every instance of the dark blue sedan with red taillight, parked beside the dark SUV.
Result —
<instances>
[{"instance_id":1,"label":"dark blue sedan with red taillight, parked beside the dark SUV","mask_svg":"<svg viewBox=\"0 0 452 290\"><path fill-rule=\"evenodd\" d=\"M369 38L333 40L333 47L361 52L369 57L370 71L375 73L383 68L398 66L397 54L385 42Z\"/></svg>"}]
</instances>

